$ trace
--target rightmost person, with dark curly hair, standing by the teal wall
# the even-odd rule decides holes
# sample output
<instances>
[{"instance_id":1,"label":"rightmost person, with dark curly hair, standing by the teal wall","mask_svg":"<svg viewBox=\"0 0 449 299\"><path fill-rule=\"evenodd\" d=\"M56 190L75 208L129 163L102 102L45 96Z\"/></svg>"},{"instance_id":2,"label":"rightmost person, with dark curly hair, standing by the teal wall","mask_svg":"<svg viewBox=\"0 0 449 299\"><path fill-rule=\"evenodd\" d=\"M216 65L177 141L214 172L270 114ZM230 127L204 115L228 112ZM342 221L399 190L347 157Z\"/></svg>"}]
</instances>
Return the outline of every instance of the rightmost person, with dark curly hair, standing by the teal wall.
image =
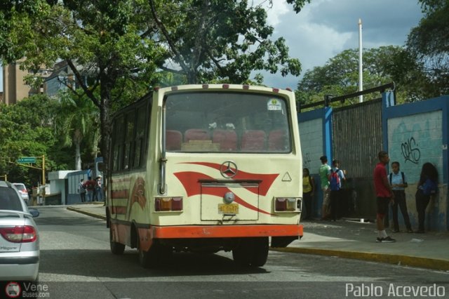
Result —
<instances>
[{"instance_id":1,"label":"rightmost person, with dark curly hair, standing by the teal wall","mask_svg":"<svg viewBox=\"0 0 449 299\"><path fill-rule=\"evenodd\" d=\"M426 208L431 196L438 191L438 171L434 164L424 163L421 168L420 181L415 194L416 210L418 212L418 233L424 233Z\"/></svg>"}]
</instances>

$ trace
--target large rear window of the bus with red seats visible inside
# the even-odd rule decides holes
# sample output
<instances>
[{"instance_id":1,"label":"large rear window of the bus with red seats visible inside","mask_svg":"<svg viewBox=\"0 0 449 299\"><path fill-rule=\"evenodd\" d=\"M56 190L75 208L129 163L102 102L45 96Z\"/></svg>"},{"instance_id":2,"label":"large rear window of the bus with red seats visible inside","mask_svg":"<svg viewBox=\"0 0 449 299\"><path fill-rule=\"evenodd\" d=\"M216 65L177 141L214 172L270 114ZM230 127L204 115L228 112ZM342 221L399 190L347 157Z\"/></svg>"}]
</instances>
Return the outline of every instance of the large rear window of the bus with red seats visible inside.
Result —
<instances>
[{"instance_id":1,"label":"large rear window of the bus with red seats visible inside","mask_svg":"<svg viewBox=\"0 0 449 299\"><path fill-rule=\"evenodd\" d=\"M236 92L166 97L168 152L291 152L284 98Z\"/></svg>"}]
</instances>

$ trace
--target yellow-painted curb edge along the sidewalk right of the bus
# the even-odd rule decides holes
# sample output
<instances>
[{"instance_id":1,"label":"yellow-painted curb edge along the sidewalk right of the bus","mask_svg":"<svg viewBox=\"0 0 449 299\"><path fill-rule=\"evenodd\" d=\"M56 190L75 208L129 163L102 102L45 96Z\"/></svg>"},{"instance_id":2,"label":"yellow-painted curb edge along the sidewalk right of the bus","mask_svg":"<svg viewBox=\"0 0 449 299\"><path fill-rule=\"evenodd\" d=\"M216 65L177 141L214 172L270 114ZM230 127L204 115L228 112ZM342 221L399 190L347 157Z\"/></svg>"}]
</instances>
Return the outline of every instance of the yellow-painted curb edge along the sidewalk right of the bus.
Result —
<instances>
[{"instance_id":1,"label":"yellow-painted curb edge along the sidewalk right of the bus","mask_svg":"<svg viewBox=\"0 0 449 299\"><path fill-rule=\"evenodd\" d=\"M417 256L410 256L410 255L366 253L359 251L337 251L320 248L296 248L296 247L270 248L270 250L291 252L291 253L329 255L329 256L337 256L339 258L352 258L355 260L370 260L380 263L389 263L394 265L402 265L410 267L421 267L432 270L443 270L443 271L449 270L448 260L438 260L434 258L420 258Z\"/></svg>"}]
</instances>

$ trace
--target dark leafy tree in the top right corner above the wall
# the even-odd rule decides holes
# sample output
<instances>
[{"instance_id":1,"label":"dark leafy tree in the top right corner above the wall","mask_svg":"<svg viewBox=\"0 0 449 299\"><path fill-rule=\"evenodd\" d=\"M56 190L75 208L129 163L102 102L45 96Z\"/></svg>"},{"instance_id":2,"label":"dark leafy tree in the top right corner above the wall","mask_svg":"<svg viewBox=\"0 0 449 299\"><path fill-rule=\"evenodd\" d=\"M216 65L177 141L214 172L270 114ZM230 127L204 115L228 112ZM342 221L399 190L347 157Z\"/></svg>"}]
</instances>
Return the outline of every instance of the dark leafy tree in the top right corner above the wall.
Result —
<instances>
[{"instance_id":1,"label":"dark leafy tree in the top right corner above the wall","mask_svg":"<svg viewBox=\"0 0 449 299\"><path fill-rule=\"evenodd\" d=\"M449 93L449 1L419 2L424 18L410 31L406 45L425 74L417 81L422 97L431 98Z\"/></svg>"}]
</instances>

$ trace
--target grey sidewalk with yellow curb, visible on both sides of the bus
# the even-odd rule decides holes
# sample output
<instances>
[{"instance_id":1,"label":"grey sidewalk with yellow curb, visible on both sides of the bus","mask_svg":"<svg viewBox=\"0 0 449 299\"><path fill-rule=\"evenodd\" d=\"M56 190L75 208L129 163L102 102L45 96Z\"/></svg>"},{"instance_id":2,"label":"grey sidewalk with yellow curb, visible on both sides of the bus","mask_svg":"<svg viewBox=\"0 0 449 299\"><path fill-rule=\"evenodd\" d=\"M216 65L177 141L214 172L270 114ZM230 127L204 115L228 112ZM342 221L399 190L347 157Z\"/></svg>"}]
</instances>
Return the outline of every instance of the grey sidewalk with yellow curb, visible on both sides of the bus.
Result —
<instances>
[{"instance_id":1,"label":"grey sidewalk with yellow curb, visible on both sides of the bus","mask_svg":"<svg viewBox=\"0 0 449 299\"><path fill-rule=\"evenodd\" d=\"M74 204L67 209L106 219L102 202ZM301 240L293 241L287 248L272 250L449 271L449 232L408 234L387 230L387 234L396 239L396 243L376 243L377 231L375 223L372 222L311 220L302 222L302 225L304 237Z\"/></svg>"}]
</instances>

